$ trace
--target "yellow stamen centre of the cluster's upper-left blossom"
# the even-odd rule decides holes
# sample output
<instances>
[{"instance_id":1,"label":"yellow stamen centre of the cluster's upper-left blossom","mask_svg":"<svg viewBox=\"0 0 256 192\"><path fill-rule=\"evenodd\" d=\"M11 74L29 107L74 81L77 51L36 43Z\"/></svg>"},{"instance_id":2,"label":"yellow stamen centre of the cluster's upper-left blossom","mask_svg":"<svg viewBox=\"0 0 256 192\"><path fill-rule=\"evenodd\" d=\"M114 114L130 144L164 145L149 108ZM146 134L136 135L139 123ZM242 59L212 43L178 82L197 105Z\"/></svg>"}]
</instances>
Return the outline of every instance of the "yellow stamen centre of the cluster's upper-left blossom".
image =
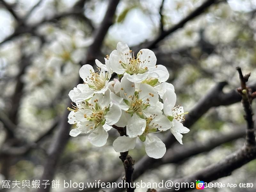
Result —
<instances>
[{"instance_id":1,"label":"yellow stamen centre of the cluster's upper-left blossom","mask_svg":"<svg viewBox=\"0 0 256 192\"><path fill-rule=\"evenodd\" d=\"M99 71L96 72L92 72L92 70L90 70L90 74L91 76L85 78L86 82L84 82L84 84L88 84L89 87L92 90L101 90L105 84L106 81L108 81L108 72L105 73L105 71L101 71L100 68L98 68Z\"/></svg>"}]
</instances>

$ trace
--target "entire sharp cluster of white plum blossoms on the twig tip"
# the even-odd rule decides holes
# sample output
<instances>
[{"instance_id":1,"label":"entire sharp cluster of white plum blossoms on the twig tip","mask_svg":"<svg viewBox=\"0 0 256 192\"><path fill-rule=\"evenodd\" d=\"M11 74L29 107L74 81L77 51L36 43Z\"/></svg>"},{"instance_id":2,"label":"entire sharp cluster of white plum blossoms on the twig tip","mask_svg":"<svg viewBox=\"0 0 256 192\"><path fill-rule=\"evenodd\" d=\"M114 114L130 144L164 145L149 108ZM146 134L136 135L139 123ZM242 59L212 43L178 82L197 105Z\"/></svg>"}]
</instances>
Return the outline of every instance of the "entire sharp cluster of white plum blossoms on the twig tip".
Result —
<instances>
[{"instance_id":1,"label":"entire sharp cluster of white plum blossoms on the twig tip","mask_svg":"<svg viewBox=\"0 0 256 192\"><path fill-rule=\"evenodd\" d=\"M156 65L154 52L141 49L134 55L127 44L119 42L105 64L95 63L97 71L91 65L81 67L84 83L69 92L74 104L68 108L68 123L76 124L71 136L88 133L88 140L100 147L106 144L112 126L124 127L126 135L113 142L116 152L133 149L140 140L153 158L166 152L157 132L169 130L182 144L182 133L189 131L182 124L186 113L175 105L174 87L166 82L168 70ZM113 73L118 79L110 81Z\"/></svg>"}]
</instances>

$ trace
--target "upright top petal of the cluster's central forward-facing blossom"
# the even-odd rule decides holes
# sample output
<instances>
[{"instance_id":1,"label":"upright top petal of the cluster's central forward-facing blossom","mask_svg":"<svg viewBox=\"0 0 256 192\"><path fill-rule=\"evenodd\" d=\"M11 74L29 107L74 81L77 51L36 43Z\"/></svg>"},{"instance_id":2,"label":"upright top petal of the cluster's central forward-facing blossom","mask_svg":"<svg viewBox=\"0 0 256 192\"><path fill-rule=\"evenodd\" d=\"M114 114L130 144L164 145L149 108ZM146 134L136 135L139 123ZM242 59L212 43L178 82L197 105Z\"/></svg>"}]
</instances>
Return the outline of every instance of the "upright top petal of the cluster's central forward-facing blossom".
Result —
<instances>
[{"instance_id":1,"label":"upright top petal of the cluster's central forward-facing blossom","mask_svg":"<svg viewBox=\"0 0 256 192\"><path fill-rule=\"evenodd\" d=\"M127 99L127 97L130 95L134 95L135 84L127 79L127 75L123 76L123 78L121 79L120 87L121 87L120 96L123 97L124 99Z\"/></svg>"}]
</instances>

